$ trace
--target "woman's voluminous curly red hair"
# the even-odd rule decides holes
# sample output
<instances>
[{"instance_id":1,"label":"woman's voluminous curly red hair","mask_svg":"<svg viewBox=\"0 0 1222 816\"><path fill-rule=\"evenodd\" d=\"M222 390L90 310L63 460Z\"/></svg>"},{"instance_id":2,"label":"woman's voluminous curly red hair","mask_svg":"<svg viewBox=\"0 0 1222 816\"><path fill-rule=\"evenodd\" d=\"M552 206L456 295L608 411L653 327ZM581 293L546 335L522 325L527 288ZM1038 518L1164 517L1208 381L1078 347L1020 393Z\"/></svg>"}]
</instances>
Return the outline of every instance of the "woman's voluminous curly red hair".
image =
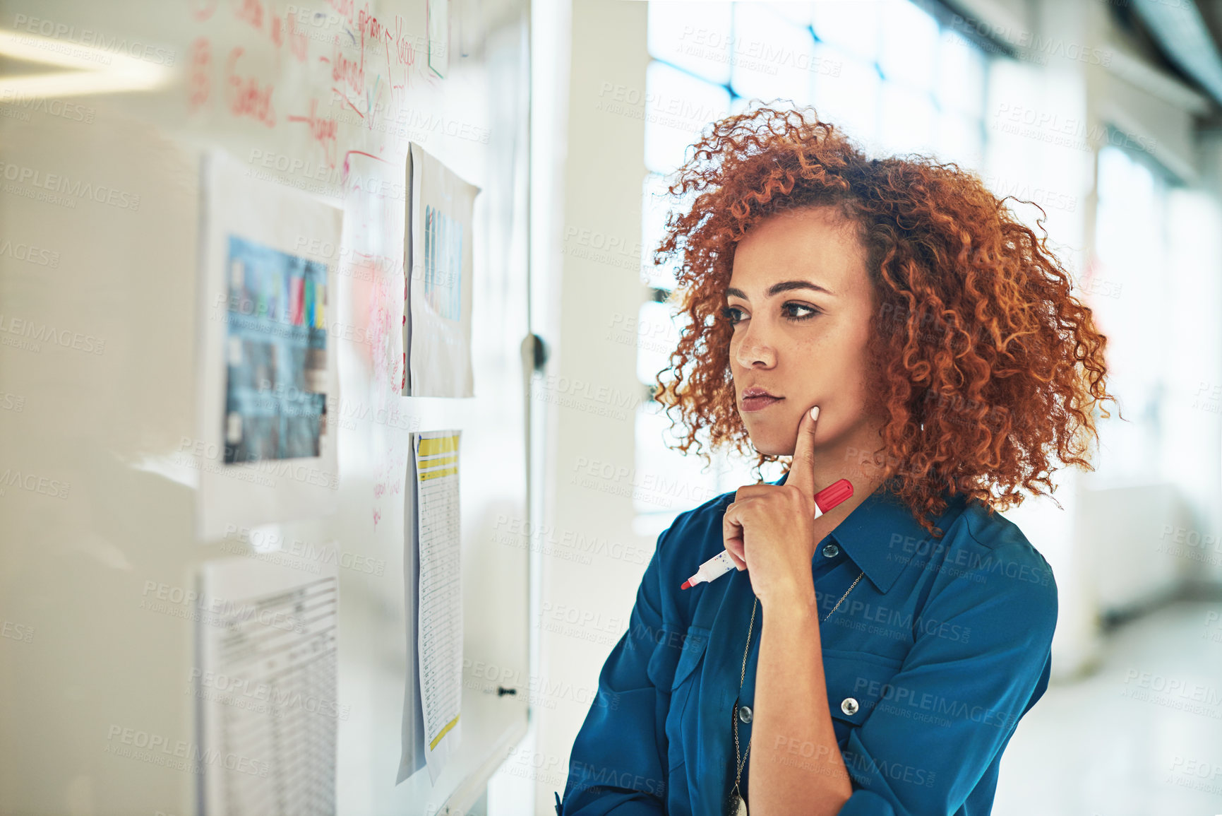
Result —
<instances>
[{"instance_id":1,"label":"woman's voluminous curly red hair","mask_svg":"<svg viewBox=\"0 0 1222 816\"><path fill-rule=\"evenodd\" d=\"M1090 469L1095 405L1116 401L1105 390L1107 339L1072 294L1046 230L1037 239L976 174L924 155L868 159L813 108L761 106L705 131L668 192L694 193L654 252L657 263L679 259L671 300L688 325L656 395L672 428L679 412L683 453L700 453L704 428L714 448L750 453L730 367L733 328L721 316L738 241L782 209L835 207L858 228L874 284L868 407L888 417L874 466L923 527L943 535L925 516L945 510L945 488L1004 510L1022 504L1018 488L1055 489L1053 458ZM756 455L758 478L781 459Z\"/></svg>"}]
</instances>

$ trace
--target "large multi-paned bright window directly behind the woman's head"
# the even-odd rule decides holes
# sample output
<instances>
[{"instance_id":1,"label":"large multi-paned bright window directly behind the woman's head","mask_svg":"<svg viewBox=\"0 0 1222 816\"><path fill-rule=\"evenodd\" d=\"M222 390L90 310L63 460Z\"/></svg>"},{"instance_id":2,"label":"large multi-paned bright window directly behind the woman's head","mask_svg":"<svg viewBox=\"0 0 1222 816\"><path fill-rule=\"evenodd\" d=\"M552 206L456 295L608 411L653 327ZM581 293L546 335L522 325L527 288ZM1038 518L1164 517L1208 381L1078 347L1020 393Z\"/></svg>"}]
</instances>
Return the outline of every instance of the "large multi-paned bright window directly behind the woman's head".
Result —
<instances>
[{"instance_id":1,"label":"large multi-paned bright window directly behind the woman's head","mask_svg":"<svg viewBox=\"0 0 1222 816\"><path fill-rule=\"evenodd\" d=\"M638 377L646 393L668 366L679 327L661 301L675 270L655 267L666 213L686 202L666 177L712 121L752 99L813 104L871 155L921 152L978 169L984 158L987 60L909 0L877 2L679 2L650 0L645 93L643 269ZM637 532L661 532L687 508L750 483L752 460L683 456L653 399L637 414L637 469L659 489L635 499ZM781 475L764 469L765 478Z\"/></svg>"}]
</instances>

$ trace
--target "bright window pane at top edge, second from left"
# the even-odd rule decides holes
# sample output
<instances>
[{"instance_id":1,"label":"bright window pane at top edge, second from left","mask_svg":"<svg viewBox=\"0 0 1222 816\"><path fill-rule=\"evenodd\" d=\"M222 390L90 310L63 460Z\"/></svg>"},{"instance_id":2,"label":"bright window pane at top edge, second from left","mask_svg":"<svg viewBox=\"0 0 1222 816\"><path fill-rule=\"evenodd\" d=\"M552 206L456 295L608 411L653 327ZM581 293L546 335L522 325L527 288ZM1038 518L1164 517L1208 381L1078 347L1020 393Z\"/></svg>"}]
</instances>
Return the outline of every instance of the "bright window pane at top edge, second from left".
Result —
<instances>
[{"instance_id":1,"label":"bright window pane at top edge, second from left","mask_svg":"<svg viewBox=\"0 0 1222 816\"><path fill-rule=\"evenodd\" d=\"M734 4L731 87L736 94L770 102L810 102L815 39L767 6Z\"/></svg>"}]
</instances>

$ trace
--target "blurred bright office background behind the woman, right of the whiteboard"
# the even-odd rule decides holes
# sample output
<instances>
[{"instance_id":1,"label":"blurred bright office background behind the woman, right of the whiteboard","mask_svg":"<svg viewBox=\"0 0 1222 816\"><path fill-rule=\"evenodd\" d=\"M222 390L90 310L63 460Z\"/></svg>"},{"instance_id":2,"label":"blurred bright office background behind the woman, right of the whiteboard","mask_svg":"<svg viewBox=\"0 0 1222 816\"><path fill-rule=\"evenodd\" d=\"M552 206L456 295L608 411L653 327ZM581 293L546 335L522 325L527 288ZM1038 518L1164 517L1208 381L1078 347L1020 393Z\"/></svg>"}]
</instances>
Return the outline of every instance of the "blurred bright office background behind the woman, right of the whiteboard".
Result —
<instances>
[{"instance_id":1,"label":"blurred bright office background behind the woman, right of the whiteboard","mask_svg":"<svg viewBox=\"0 0 1222 816\"><path fill-rule=\"evenodd\" d=\"M675 278L651 252L686 148L778 98L875 155L979 172L1033 228L1018 199L1042 207L1110 339L1128 421L1100 420L1092 472L1004 514L1052 564L1061 607L1052 685L993 812L1222 811L1222 2L547 0L533 27L532 262L556 281L534 303L555 351L534 384L544 529L569 541L599 519L612 546L534 555L538 703L490 812L554 812L657 535L752 481L745 462L667 448L650 385L677 339L660 302Z\"/></svg>"}]
</instances>

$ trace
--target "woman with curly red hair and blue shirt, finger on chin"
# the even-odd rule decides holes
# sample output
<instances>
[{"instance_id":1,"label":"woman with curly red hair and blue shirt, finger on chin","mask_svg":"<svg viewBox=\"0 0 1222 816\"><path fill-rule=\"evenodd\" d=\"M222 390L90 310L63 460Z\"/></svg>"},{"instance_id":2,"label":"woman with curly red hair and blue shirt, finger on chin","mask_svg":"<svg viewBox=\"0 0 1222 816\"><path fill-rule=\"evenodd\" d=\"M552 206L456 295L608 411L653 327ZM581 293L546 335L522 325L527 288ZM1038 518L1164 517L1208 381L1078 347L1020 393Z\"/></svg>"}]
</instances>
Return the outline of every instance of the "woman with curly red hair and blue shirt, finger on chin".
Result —
<instances>
[{"instance_id":1,"label":"woman with curly red hair and blue shirt, finger on chin","mask_svg":"<svg viewBox=\"0 0 1222 816\"><path fill-rule=\"evenodd\" d=\"M655 256L682 254L659 377L682 449L706 428L756 476L793 459L659 537L557 812L990 812L1057 618L993 510L1052 458L1089 467L1106 339L975 175L869 160L818 117L716 122L671 192L697 193ZM722 548L738 569L681 590Z\"/></svg>"}]
</instances>

